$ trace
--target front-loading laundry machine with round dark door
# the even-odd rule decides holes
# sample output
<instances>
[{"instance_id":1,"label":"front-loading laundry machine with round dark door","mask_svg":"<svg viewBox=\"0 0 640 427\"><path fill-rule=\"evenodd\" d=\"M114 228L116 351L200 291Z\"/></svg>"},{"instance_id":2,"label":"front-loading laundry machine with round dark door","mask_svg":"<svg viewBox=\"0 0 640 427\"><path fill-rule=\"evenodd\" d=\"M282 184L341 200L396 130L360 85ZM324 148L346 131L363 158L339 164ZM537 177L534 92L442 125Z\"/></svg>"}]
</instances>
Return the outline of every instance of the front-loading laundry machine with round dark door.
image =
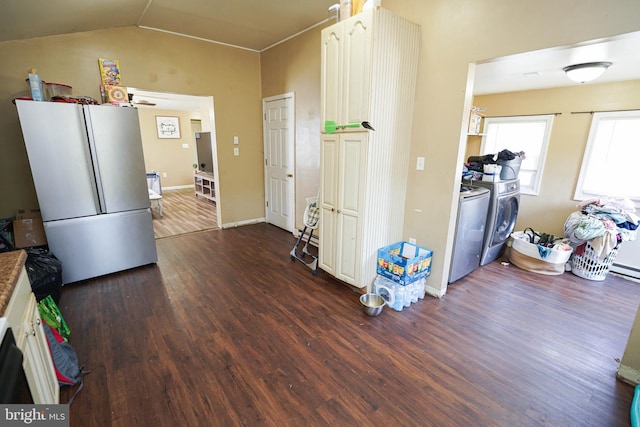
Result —
<instances>
[{"instance_id":1,"label":"front-loading laundry machine with round dark door","mask_svg":"<svg viewBox=\"0 0 640 427\"><path fill-rule=\"evenodd\" d=\"M473 185L489 189L489 214L485 228L480 265L498 259L513 232L520 207L520 180L473 181Z\"/></svg>"}]
</instances>

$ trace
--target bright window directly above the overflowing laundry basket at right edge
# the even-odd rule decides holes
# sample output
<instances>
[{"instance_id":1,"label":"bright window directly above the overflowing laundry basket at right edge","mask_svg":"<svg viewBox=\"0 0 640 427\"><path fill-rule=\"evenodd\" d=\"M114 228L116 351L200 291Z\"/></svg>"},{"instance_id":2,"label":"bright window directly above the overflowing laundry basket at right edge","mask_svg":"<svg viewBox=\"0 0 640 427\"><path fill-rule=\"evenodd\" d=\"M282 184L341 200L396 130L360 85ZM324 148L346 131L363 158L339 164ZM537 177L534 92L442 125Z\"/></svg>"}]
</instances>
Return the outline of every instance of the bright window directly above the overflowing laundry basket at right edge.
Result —
<instances>
[{"instance_id":1,"label":"bright window directly above the overflowing laundry basket at right edge","mask_svg":"<svg viewBox=\"0 0 640 427\"><path fill-rule=\"evenodd\" d=\"M574 198L628 197L640 207L640 110L594 113Z\"/></svg>"}]
</instances>

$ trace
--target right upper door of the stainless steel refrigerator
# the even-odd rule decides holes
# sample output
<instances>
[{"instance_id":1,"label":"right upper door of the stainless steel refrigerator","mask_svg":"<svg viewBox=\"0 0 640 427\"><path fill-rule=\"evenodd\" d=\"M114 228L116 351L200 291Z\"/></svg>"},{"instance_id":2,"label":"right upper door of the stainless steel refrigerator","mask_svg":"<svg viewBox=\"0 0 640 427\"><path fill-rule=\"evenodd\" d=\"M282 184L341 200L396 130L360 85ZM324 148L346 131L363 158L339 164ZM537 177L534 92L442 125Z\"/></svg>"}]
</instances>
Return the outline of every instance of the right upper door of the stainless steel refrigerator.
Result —
<instances>
[{"instance_id":1,"label":"right upper door of the stainless steel refrigerator","mask_svg":"<svg viewBox=\"0 0 640 427\"><path fill-rule=\"evenodd\" d=\"M138 110L106 105L87 105L84 109L101 212L148 208Z\"/></svg>"}]
</instances>

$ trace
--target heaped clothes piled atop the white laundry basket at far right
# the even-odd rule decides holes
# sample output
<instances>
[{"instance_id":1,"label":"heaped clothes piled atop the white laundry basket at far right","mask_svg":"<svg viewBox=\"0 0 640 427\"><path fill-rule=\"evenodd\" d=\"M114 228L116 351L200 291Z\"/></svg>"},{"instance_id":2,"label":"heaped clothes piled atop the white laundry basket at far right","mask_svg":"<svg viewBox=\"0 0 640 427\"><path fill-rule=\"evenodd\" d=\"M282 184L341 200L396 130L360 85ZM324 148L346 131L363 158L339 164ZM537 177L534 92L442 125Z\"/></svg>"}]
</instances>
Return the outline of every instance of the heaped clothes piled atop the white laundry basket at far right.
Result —
<instances>
[{"instance_id":1,"label":"heaped clothes piled atop the white laundry basket at far right","mask_svg":"<svg viewBox=\"0 0 640 427\"><path fill-rule=\"evenodd\" d=\"M622 242L636 239L639 217L629 199L597 198L576 206L564 224L564 236L582 255L587 242L600 260L605 259Z\"/></svg>"}]
</instances>

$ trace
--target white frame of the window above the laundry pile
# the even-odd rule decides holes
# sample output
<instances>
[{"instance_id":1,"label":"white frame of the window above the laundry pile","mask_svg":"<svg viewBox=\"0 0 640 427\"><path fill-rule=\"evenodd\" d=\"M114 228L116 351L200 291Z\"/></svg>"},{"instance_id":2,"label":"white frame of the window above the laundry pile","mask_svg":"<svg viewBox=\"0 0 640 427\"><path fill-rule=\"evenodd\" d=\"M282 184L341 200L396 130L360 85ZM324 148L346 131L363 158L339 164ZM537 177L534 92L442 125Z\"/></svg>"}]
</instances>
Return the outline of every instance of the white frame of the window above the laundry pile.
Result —
<instances>
[{"instance_id":1,"label":"white frame of the window above the laundry pile","mask_svg":"<svg viewBox=\"0 0 640 427\"><path fill-rule=\"evenodd\" d=\"M574 193L574 200L582 201L588 200L597 197L612 197L612 198L629 198L631 199L636 207L640 208L640 197L632 196L628 194L621 194L616 192L616 188L612 188L611 192L607 194L595 194L590 193L584 189L584 184L586 180L586 176L588 174L588 168L591 160L592 153L595 151L596 146L596 136L598 134L598 126L603 120L626 120L626 119L640 119L640 110L633 111L612 111L612 112L601 112L601 113L593 113L593 117L591 119L591 127L589 128L589 137L587 139L587 145L584 151L584 157L582 158L582 165L580 166L580 174L578 175L578 182L576 184L576 191ZM636 159L637 160L637 159Z\"/></svg>"}]
</instances>

